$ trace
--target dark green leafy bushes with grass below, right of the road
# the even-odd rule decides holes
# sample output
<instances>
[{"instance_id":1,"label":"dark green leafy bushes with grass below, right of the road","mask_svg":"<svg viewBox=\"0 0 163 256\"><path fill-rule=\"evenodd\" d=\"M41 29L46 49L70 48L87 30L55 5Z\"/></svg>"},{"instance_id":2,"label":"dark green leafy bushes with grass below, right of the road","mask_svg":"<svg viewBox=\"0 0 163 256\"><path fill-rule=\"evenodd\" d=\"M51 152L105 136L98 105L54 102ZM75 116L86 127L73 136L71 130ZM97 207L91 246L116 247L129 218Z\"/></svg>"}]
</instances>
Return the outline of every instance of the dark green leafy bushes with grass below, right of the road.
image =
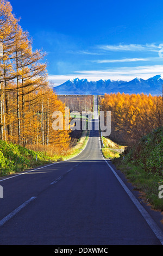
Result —
<instances>
[{"instance_id":1,"label":"dark green leafy bushes with grass below, right of the road","mask_svg":"<svg viewBox=\"0 0 163 256\"><path fill-rule=\"evenodd\" d=\"M133 148L125 150L124 155L113 160L129 182L142 192L145 202L161 211L163 198L159 197L159 190L163 186L162 160L163 127L142 137Z\"/></svg>"}]
</instances>

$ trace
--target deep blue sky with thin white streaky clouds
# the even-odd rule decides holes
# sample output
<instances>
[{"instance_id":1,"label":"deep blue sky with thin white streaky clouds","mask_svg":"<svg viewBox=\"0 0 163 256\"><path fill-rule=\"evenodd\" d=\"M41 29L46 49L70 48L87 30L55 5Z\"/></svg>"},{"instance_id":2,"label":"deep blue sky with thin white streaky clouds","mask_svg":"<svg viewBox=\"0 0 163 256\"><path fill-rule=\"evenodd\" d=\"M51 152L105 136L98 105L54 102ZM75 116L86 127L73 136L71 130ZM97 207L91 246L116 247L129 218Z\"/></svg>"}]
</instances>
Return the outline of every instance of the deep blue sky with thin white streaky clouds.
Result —
<instances>
[{"instance_id":1,"label":"deep blue sky with thin white streaky clouds","mask_svg":"<svg viewBox=\"0 0 163 256\"><path fill-rule=\"evenodd\" d=\"M10 0L49 80L129 81L163 74L162 1ZM162 44L162 45L161 45Z\"/></svg>"}]
</instances>

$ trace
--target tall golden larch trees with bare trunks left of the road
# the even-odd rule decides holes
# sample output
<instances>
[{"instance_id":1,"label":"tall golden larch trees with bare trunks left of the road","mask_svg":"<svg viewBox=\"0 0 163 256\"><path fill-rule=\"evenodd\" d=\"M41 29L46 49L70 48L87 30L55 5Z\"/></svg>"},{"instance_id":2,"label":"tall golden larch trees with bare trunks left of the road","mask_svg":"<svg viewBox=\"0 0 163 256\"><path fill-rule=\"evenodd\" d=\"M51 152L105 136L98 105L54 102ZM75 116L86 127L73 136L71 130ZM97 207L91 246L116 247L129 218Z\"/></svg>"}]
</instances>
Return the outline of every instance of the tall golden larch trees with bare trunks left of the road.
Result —
<instances>
[{"instance_id":1,"label":"tall golden larch trees with bare trunks left of the road","mask_svg":"<svg viewBox=\"0 0 163 256\"><path fill-rule=\"evenodd\" d=\"M0 47L0 139L67 148L70 131L52 129L53 112L64 114L65 105L49 86L46 53L33 51L32 38L5 0L0 1Z\"/></svg>"}]
</instances>

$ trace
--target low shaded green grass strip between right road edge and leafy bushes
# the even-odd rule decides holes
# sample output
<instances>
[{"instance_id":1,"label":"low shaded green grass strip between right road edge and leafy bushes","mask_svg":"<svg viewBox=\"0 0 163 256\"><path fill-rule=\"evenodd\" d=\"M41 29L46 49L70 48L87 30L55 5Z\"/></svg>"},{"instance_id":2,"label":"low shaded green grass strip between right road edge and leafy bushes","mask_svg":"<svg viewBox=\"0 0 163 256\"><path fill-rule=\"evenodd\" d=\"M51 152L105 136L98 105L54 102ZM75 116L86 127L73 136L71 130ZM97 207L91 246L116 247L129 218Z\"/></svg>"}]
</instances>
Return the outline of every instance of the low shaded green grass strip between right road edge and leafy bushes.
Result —
<instances>
[{"instance_id":1,"label":"low shaded green grass strip between right road edge and leafy bushes","mask_svg":"<svg viewBox=\"0 0 163 256\"><path fill-rule=\"evenodd\" d=\"M146 172L140 166L128 163L122 157L112 161L117 169L126 176L128 181L138 190L145 203L154 210L163 211L163 199L159 198L159 186L163 185L163 176L160 173Z\"/></svg>"}]
</instances>

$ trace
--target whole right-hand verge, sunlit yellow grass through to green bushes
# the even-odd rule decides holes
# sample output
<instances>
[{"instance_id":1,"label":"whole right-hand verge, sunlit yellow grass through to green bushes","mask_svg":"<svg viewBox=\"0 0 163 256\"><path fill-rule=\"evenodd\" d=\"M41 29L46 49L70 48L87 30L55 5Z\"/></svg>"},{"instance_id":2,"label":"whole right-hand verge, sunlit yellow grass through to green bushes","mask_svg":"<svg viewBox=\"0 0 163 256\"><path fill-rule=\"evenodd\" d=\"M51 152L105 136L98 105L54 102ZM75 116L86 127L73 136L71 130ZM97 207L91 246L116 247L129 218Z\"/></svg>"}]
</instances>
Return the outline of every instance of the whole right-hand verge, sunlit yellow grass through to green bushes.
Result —
<instances>
[{"instance_id":1,"label":"whole right-hand verge, sunlit yellow grass through to green bushes","mask_svg":"<svg viewBox=\"0 0 163 256\"><path fill-rule=\"evenodd\" d=\"M162 147L161 134L160 130L156 130L152 135L142 138L140 143L136 144L135 149L127 150L125 150L126 147L121 147L110 139L102 137L104 144L102 153L105 159L111 159L116 168L121 170L128 182L134 186L134 189L140 192L143 202L158 211L163 211L163 198L159 198L159 186L163 186L163 173L157 167L157 165L160 167L161 159L158 157L161 154L159 149ZM125 150L125 157L123 158L121 153L111 150L113 148ZM155 151L157 154L154 154ZM145 160L148 162L146 163Z\"/></svg>"}]
</instances>

